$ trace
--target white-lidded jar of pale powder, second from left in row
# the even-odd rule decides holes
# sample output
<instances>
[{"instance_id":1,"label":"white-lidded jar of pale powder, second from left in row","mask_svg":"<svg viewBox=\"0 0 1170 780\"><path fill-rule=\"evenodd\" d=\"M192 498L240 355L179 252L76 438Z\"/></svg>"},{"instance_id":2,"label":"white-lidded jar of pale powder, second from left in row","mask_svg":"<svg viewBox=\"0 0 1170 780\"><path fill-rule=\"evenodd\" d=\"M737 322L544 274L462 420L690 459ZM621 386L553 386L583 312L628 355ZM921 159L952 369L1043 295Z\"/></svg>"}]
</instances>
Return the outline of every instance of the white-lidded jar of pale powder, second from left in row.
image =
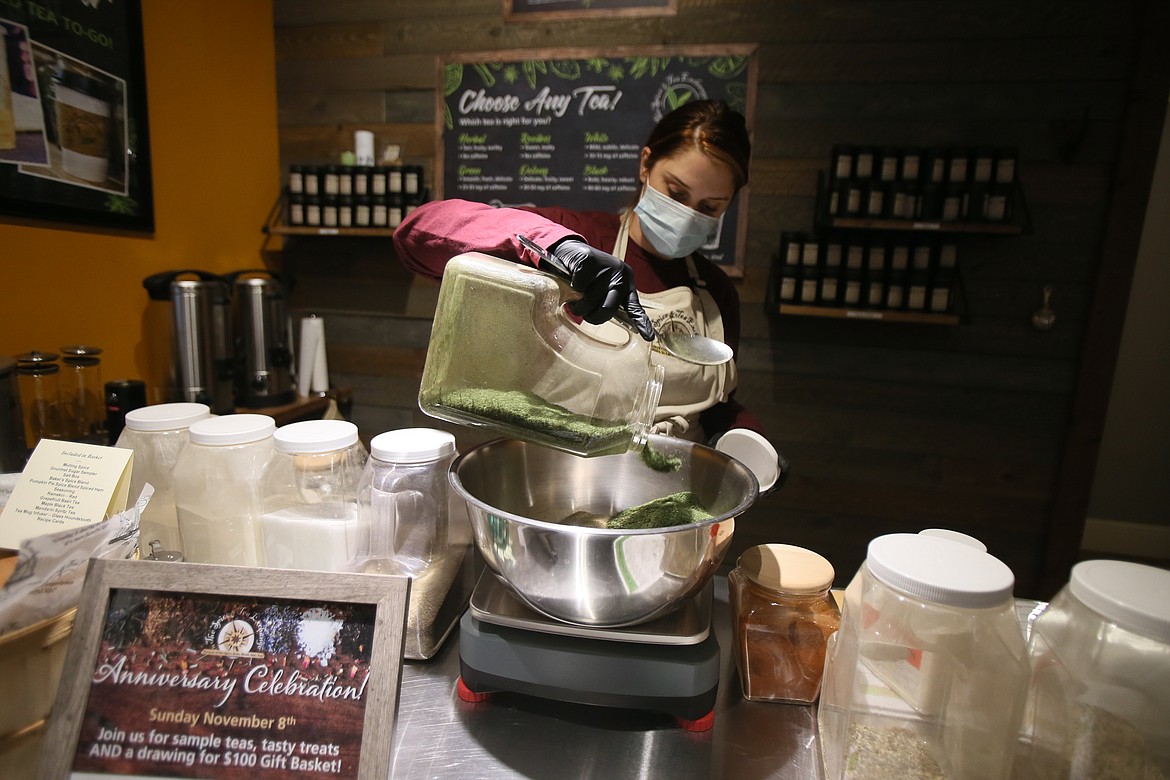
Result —
<instances>
[{"instance_id":1,"label":"white-lidded jar of pale powder, second from left in row","mask_svg":"<svg viewBox=\"0 0 1170 780\"><path fill-rule=\"evenodd\" d=\"M260 476L273 453L267 414L200 420L174 467L183 555L197 564L263 566Z\"/></svg>"}]
</instances>

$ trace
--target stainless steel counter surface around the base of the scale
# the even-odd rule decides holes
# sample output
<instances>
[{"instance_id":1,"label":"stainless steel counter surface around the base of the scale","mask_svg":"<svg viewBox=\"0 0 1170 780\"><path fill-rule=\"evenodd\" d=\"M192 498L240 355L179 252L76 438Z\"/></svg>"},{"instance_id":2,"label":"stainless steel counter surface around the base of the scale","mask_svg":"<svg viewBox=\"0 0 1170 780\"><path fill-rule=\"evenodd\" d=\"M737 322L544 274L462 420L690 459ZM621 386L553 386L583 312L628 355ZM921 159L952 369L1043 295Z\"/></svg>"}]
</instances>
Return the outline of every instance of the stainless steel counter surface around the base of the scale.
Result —
<instances>
[{"instance_id":1,"label":"stainless steel counter surface around the base of the scale","mask_svg":"<svg viewBox=\"0 0 1170 780\"><path fill-rule=\"evenodd\" d=\"M391 776L823 778L813 706L748 702L731 649L727 579L715 579L720 643L715 725L689 732L666 715L496 693L480 704L455 693L459 633L429 661L402 668Z\"/></svg>"}]
</instances>

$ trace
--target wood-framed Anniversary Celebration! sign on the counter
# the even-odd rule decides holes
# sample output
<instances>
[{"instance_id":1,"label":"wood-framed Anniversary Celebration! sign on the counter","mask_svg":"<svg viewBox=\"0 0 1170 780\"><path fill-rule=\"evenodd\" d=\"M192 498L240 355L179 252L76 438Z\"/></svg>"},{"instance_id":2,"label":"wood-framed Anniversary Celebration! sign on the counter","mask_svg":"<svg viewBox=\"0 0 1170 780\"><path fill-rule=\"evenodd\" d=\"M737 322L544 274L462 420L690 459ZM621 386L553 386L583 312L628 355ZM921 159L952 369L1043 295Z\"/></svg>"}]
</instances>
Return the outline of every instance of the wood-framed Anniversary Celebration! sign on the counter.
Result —
<instances>
[{"instance_id":1,"label":"wood-framed Anniversary Celebration! sign on the counter","mask_svg":"<svg viewBox=\"0 0 1170 780\"><path fill-rule=\"evenodd\" d=\"M384 780L408 589L91 560L37 776Z\"/></svg>"}]
</instances>

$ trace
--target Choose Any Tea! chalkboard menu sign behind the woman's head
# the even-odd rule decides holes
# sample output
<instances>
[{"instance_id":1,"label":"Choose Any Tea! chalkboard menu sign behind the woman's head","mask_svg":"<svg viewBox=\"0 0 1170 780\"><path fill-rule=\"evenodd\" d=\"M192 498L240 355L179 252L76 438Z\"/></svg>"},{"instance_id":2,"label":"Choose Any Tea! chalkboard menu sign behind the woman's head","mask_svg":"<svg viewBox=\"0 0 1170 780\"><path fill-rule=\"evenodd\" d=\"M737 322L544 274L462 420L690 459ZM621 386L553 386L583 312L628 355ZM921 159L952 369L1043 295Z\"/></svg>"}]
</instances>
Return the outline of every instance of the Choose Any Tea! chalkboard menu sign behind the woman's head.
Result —
<instances>
[{"instance_id":1,"label":"Choose Any Tea! chalkboard menu sign behind the woman's head","mask_svg":"<svg viewBox=\"0 0 1170 780\"><path fill-rule=\"evenodd\" d=\"M442 62L435 189L496 206L618 212L640 187L646 137L672 109L722 99L751 129L753 46L510 51ZM701 250L743 271L746 187Z\"/></svg>"}]
</instances>

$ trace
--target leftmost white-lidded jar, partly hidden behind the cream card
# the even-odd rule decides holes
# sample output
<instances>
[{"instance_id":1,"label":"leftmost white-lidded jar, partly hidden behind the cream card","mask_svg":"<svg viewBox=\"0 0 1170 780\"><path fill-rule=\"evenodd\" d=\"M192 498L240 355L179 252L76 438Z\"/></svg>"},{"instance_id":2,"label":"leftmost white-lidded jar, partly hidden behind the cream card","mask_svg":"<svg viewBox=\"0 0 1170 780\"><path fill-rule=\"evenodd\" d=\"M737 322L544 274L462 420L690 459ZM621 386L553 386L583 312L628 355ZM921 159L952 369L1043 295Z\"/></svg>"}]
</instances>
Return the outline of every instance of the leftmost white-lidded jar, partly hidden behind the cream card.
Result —
<instances>
[{"instance_id":1,"label":"leftmost white-lidded jar, partly hidden behind the cream card","mask_svg":"<svg viewBox=\"0 0 1170 780\"><path fill-rule=\"evenodd\" d=\"M187 429L211 416L206 403L158 403L126 413L125 427L115 447L135 451L130 501L138 501L146 483L154 489L138 523L138 546L144 553L154 541L159 543L159 552L183 551L179 517L174 510L174 467L190 441Z\"/></svg>"}]
</instances>

